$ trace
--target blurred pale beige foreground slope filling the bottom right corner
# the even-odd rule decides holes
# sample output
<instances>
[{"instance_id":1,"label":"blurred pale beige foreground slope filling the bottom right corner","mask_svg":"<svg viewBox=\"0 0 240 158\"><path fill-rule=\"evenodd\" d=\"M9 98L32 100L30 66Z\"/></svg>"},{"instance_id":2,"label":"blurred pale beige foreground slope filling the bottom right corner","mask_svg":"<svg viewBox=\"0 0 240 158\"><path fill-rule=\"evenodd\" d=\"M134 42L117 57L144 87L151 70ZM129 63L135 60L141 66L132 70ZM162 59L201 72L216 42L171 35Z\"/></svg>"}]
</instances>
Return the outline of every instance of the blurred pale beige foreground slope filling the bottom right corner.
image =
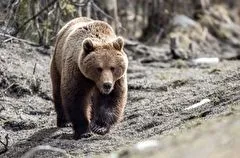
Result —
<instances>
[{"instance_id":1,"label":"blurred pale beige foreground slope filling the bottom right corner","mask_svg":"<svg viewBox=\"0 0 240 158\"><path fill-rule=\"evenodd\" d=\"M173 134L154 136L102 158L238 158L240 151L240 106L209 120L192 120ZM189 128L186 128L189 127ZM193 128L194 127L194 128Z\"/></svg>"}]
</instances>

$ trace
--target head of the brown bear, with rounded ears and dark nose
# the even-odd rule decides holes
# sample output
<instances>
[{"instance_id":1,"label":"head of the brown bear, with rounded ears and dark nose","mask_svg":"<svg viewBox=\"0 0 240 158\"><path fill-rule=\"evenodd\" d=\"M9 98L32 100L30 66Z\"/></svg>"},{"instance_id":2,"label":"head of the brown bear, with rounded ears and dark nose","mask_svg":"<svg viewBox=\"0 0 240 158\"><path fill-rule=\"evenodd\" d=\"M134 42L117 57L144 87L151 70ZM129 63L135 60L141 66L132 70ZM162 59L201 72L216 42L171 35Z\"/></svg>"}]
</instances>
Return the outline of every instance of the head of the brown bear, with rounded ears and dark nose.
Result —
<instances>
[{"instance_id":1,"label":"head of the brown bear, with rounded ears and dark nose","mask_svg":"<svg viewBox=\"0 0 240 158\"><path fill-rule=\"evenodd\" d=\"M122 37L110 42L87 38L82 42L78 66L82 74L95 82L102 94L109 94L115 82L126 74L127 55L123 51Z\"/></svg>"}]
</instances>

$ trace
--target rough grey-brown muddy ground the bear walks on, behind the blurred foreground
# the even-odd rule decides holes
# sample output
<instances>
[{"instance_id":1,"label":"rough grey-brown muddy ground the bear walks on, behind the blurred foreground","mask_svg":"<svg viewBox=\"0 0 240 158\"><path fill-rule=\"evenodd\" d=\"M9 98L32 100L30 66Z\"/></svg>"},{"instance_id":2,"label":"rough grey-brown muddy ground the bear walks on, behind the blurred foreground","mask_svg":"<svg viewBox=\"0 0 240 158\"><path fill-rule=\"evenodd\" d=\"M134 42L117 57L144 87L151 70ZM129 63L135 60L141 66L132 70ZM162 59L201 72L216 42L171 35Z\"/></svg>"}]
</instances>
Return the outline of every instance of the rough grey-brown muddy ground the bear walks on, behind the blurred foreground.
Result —
<instances>
[{"instance_id":1,"label":"rough grey-brown muddy ground the bear walks on, behind the blurred foreground","mask_svg":"<svg viewBox=\"0 0 240 158\"><path fill-rule=\"evenodd\" d=\"M151 53L127 53L129 99L124 119L105 136L76 141L71 128L56 128L49 77L51 50L16 41L1 44L0 135L2 142L8 135L9 143L6 152L1 145L0 156L21 157L36 146L50 145L72 156L92 157L148 138L181 133L215 117L237 115L239 110L233 110L233 105L240 105L238 60L192 65L184 60L158 62ZM203 99L210 102L185 109ZM239 122L239 117L234 118ZM34 157L64 154L38 151Z\"/></svg>"}]
</instances>

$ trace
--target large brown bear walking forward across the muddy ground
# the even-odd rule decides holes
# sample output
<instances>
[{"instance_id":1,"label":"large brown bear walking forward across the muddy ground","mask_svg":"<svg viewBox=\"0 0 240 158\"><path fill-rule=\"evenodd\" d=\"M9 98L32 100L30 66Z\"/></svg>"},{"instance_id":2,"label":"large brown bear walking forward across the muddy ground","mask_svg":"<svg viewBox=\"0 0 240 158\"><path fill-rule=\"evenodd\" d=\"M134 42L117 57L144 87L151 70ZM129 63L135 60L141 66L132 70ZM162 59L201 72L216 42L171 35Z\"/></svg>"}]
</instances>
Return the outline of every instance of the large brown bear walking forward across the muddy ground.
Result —
<instances>
[{"instance_id":1,"label":"large brown bear walking forward across the muddy ground","mask_svg":"<svg viewBox=\"0 0 240 158\"><path fill-rule=\"evenodd\" d=\"M74 138L104 135L127 100L127 55L110 25L89 18L68 22L57 34L51 61L57 126L72 123Z\"/></svg>"}]
</instances>

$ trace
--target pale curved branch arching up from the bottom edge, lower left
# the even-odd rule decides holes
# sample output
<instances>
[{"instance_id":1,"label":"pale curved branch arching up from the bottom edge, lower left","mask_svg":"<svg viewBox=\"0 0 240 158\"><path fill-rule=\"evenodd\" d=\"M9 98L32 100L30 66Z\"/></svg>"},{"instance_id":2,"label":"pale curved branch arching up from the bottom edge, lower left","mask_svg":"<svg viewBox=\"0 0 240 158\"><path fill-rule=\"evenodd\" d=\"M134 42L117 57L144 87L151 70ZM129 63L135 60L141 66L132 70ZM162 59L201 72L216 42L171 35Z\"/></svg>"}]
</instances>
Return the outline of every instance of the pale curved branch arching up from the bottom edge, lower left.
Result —
<instances>
[{"instance_id":1,"label":"pale curved branch arching up from the bottom edge, lower left","mask_svg":"<svg viewBox=\"0 0 240 158\"><path fill-rule=\"evenodd\" d=\"M47 150L47 151L54 151L54 152L59 152L63 155L65 155L68 158L72 158L73 156L71 156L70 154L68 154L65 150L60 149L60 148L56 148L56 147L52 147L50 145L39 145L36 146L34 148L32 148L31 150L29 150L28 152L26 152L22 158L30 158L34 153L36 153L37 151L42 151L42 150Z\"/></svg>"}]
</instances>

